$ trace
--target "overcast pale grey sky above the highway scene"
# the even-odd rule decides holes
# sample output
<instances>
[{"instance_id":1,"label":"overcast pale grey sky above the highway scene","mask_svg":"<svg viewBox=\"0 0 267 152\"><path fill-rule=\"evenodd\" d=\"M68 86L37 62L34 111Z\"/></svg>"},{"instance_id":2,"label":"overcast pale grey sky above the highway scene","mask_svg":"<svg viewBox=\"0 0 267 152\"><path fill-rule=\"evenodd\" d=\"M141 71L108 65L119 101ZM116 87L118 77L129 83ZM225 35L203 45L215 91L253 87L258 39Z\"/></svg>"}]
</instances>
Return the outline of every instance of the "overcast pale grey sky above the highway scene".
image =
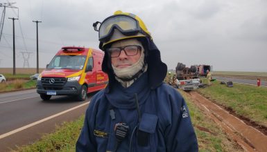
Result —
<instances>
[{"instance_id":1,"label":"overcast pale grey sky above the highway scene","mask_svg":"<svg viewBox=\"0 0 267 152\"><path fill-rule=\"evenodd\" d=\"M146 24L168 69L212 65L214 71L267 72L266 0L0 0L6 8L0 41L0 68L12 68L12 19L16 67L44 68L62 46L98 48L92 24L116 10ZM3 8L0 8L2 16ZM29 56L28 56L29 55ZM28 63L28 64L27 64Z\"/></svg>"}]
</instances>

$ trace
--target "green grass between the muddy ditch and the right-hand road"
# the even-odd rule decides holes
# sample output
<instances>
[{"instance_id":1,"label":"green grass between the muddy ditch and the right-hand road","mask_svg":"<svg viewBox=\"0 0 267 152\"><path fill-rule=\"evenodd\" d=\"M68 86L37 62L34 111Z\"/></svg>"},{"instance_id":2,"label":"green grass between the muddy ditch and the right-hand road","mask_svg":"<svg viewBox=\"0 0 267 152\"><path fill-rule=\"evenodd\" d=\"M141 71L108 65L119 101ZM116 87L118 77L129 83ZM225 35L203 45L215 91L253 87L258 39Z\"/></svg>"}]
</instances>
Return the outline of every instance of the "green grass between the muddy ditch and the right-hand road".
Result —
<instances>
[{"instance_id":1,"label":"green grass between the muddy ditch and the right-hand road","mask_svg":"<svg viewBox=\"0 0 267 152\"><path fill-rule=\"evenodd\" d=\"M267 127L267 88L235 83L234 87L227 87L215 81L198 92L232 113Z\"/></svg>"}]
</instances>

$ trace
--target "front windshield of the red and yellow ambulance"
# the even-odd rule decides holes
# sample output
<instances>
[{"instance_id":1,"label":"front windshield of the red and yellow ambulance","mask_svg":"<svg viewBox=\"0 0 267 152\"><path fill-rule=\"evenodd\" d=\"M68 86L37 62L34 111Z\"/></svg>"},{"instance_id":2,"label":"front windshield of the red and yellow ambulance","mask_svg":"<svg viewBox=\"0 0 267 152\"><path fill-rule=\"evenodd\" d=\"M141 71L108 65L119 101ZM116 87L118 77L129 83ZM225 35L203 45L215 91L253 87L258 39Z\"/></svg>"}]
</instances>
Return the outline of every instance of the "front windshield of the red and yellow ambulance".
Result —
<instances>
[{"instance_id":1,"label":"front windshield of the red and yellow ambulance","mask_svg":"<svg viewBox=\"0 0 267 152\"><path fill-rule=\"evenodd\" d=\"M81 70L85 66L85 55L57 55L47 68Z\"/></svg>"}]
</instances>

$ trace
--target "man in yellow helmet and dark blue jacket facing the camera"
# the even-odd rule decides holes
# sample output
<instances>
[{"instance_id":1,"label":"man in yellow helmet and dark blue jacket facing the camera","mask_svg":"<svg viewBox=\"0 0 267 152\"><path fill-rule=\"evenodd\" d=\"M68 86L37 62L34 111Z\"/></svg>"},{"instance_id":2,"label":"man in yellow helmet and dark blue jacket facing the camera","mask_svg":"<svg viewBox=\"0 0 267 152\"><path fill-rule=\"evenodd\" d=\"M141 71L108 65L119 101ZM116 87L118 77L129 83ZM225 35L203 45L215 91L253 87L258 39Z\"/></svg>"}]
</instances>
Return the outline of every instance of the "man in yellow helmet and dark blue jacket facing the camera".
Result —
<instances>
[{"instance_id":1,"label":"man in yellow helmet and dark blue jacket facing the camera","mask_svg":"<svg viewBox=\"0 0 267 152\"><path fill-rule=\"evenodd\" d=\"M167 66L144 22L117 11L94 28L109 84L92 97L76 151L198 151L187 105L162 83Z\"/></svg>"}]
</instances>

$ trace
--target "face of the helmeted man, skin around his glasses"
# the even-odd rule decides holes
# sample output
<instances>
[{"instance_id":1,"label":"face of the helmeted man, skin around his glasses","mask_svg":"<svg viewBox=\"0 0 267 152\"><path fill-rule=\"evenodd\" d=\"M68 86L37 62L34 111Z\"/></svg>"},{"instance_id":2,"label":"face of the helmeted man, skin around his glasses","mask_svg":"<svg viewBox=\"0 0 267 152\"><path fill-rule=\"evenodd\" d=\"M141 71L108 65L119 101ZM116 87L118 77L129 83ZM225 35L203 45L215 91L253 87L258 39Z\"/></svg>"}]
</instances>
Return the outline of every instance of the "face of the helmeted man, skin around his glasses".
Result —
<instances>
[{"instance_id":1,"label":"face of the helmeted man, skin around his glasses","mask_svg":"<svg viewBox=\"0 0 267 152\"><path fill-rule=\"evenodd\" d=\"M122 41L115 42L112 44L110 48L115 47L124 47L124 46L141 46L141 43L137 41L137 39L126 39ZM132 66L132 64L135 64L141 56L141 50L138 50L137 55L126 55L126 52L124 50L121 50L121 54L119 57L111 57L111 63L116 68L127 68L128 66Z\"/></svg>"}]
</instances>

